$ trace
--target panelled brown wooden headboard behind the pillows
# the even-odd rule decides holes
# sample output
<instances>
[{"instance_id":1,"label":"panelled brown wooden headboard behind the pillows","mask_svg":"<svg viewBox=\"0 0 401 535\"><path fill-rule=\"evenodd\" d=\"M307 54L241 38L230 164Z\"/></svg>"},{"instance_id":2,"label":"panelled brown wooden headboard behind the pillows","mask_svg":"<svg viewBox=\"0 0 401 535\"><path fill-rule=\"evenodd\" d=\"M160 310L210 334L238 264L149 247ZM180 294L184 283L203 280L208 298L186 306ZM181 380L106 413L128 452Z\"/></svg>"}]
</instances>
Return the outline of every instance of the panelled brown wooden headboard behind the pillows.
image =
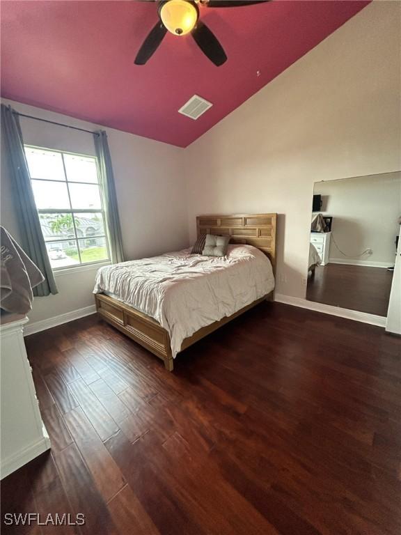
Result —
<instances>
[{"instance_id":1,"label":"panelled brown wooden headboard behind the pillows","mask_svg":"<svg viewBox=\"0 0 401 535\"><path fill-rule=\"evenodd\" d=\"M276 214L198 215L196 234L230 236L230 243L253 245L276 267Z\"/></svg>"}]
</instances>

